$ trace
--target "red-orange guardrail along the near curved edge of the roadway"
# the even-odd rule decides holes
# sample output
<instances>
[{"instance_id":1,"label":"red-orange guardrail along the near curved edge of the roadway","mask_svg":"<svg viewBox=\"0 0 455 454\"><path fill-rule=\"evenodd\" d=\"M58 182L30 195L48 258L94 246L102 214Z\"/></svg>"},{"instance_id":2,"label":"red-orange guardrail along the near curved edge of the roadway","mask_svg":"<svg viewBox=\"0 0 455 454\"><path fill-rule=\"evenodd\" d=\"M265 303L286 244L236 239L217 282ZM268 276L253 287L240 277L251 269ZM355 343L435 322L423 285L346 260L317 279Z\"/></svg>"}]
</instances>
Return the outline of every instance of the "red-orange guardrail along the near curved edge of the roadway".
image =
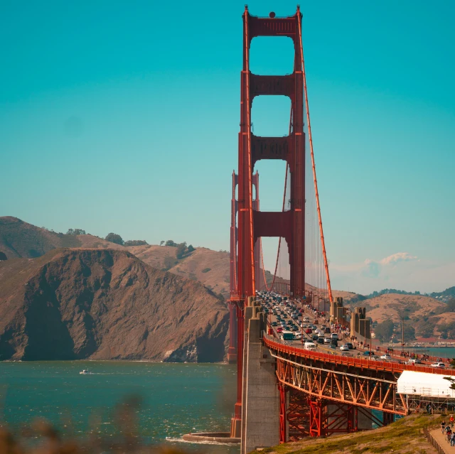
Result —
<instances>
[{"instance_id":1,"label":"red-orange guardrail along the near curved edge of the roadway","mask_svg":"<svg viewBox=\"0 0 455 454\"><path fill-rule=\"evenodd\" d=\"M359 367L360 369L373 369L382 370L387 372L403 372L404 370L411 370L414 372L427 372L428 374L437 375L453 375L455 370L437 369L435 367L413 366L408 364L397 364L395 362L386 361L373 361L363 360L354 357L345 357L340 355L330 355L328 353L320 353L311 350L304 350L303 348L293 347L280 342L275 337L264 333L262 340L267 347L278 352L287 353L288 355L295 355L298 357L305 357L311 360L321 360L323 362L331 362L334 364L341 364L345 366Z\"/></svg>"}]
</instances>

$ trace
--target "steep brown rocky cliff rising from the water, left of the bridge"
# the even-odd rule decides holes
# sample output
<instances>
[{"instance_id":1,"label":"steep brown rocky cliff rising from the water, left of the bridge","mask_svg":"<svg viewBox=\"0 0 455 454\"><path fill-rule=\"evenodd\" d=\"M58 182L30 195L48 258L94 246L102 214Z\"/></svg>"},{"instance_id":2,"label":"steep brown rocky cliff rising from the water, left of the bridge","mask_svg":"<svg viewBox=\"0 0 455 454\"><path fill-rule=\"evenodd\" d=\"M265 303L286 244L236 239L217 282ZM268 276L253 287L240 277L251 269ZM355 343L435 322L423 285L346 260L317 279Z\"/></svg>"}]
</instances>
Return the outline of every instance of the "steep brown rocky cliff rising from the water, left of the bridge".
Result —
<instances>
[{"instance_id":1,"label":"steep brown rocky cliff rising from the water, left of the bridge","mask_svg":"<svg viewBox=\"0 0 455 454\"><path fill-rule=\"evenodd\" d=\"M117 250L0 262L0 359L215 362L228 310L208 288Z\"/></svg>"}]
</instances>

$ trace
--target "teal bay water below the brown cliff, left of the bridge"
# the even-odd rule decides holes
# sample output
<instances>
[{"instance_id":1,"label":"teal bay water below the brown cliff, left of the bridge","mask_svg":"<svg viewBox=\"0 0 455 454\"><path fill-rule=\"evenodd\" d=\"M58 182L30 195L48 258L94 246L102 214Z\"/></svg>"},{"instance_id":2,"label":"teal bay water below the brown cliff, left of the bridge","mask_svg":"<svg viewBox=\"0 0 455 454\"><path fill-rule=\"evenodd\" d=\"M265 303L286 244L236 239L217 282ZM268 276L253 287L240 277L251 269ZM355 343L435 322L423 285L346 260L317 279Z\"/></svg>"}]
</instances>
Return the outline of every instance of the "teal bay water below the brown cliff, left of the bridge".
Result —
<instances>
[{"instance_id":1,"label":"teal bay water below the brown cliff, left of the bridge","mask_svg":"<svg viewBox=\"0 0 455 454\"><path fill-rule=\"evenodd\" d=\"M89 368L91 374L81 375ZM152 362L0 362L0 420L14 431L45 418L68 436L115 434L115 406L129 396L139 436L188 452L234 454L228 445L184 443L194 431L229 431L235 365Z\"/></svg>"}]
</instances>

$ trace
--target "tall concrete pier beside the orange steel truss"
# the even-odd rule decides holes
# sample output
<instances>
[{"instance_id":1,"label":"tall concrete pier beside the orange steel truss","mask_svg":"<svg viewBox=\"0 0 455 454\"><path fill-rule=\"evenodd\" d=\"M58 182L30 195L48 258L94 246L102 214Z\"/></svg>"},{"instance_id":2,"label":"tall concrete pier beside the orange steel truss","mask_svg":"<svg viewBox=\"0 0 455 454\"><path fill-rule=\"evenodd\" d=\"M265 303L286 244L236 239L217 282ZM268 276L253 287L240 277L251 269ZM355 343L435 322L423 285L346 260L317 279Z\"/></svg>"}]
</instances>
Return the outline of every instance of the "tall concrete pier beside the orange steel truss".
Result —
<instances>
[{"instance_id":1,"label":"tall concrete pier beside the orange steel truss","mask_svg":"<svg viewBox=\"0 0 455 454\"><path fill-rule=\"evenodd\" d=\"M279 390L275 359L262 345L264 313L245 308L245 348L240 454L279 444Z\"/></svg>"}]
</instances>

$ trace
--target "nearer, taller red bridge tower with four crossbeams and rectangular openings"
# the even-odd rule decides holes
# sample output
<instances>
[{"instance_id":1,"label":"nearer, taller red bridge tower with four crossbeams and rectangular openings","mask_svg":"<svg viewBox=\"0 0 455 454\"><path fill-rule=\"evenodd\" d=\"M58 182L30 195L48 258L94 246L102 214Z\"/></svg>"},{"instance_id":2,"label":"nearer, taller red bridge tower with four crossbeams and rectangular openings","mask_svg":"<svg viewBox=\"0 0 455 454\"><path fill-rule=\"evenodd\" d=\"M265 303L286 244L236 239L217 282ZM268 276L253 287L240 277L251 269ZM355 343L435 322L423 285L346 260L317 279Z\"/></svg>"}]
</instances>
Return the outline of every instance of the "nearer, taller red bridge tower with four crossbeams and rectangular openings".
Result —
<instances>
[{"instance_id":1,"label":"nearer, taller red bridge tower with four crossbeams and rectangular openings","mask_svg":"<svg viewBox=\"0 0 455 454\"><path fill-rule=\"evenodd\" d=\"M257 36L288 36L294 41L294 72L291 75L255 75L250 72L250 44ZM235 288L232 288L230 298L237 311L237 403L231 424L232 437L240 436L241 431L242 396L245 400L242 387L246 379L243 370L245 308L254 304L253 297L259 288L257 245L261 237L282 237L286 240L289 251L291 296L304 296L305 291L305 136L302 69L299 7L294 16L277 18L274 13L270 13L269 17L251 16L245 6L238 176L235 178L235 174L233 175L233 200L236 183L238 196L236 206L232 206L234 214L231 222L231 265L236 266L237 271L235 276L231 276L235 279ZM255 97L262 95L284 95L291 100L289 136L261 137L252 133L252 102ZM260 159L280 159L287 162L290 173L290 210L259 211L259 200L253 200L253 185L258 188L258 179L252 171ZM233 224L235 212L237 229Z\"/></svg>"}]
</instances>

